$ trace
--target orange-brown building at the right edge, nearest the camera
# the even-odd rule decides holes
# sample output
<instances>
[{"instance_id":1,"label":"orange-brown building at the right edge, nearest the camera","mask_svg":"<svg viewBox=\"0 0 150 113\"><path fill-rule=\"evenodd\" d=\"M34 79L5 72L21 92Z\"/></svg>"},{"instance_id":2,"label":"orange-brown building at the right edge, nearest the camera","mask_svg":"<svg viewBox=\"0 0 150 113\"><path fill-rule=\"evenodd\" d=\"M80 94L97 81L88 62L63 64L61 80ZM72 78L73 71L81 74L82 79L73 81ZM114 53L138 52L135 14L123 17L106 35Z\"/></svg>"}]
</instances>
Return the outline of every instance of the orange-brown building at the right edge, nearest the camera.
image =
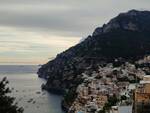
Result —
<instances>
[{"instance_id":1,"label":"orange-brown building at the right edge, nearest the camera","mask_svg":"<svg viewBox=\"0 0 150 113\"><path fill-rule=\"evenodd\" d=\"M150 76L144 76L134 91L133 113L150 113Z\"/></svg>"}]
</instances>

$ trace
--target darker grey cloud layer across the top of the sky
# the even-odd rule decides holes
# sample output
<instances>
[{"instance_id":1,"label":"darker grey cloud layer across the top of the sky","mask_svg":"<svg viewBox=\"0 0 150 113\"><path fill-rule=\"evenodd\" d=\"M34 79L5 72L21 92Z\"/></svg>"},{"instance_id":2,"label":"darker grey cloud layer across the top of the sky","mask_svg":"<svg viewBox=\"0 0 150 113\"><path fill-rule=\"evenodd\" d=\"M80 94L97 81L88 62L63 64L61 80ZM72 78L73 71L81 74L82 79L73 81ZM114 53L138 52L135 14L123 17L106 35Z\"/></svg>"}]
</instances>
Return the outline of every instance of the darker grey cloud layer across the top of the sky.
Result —
<instances>
[{"instance_id":1,"label":"darker grey cloud layer across the top of the sky","mask_svg":"<svg viewBox=\"0 0 150 113\"><path fill-rule=\"evenodd\" d=\"M0 3L2 26L78 37L88 35L121 11L149 9L146 0L0 0Z\"/></svg>"}]
</instances>

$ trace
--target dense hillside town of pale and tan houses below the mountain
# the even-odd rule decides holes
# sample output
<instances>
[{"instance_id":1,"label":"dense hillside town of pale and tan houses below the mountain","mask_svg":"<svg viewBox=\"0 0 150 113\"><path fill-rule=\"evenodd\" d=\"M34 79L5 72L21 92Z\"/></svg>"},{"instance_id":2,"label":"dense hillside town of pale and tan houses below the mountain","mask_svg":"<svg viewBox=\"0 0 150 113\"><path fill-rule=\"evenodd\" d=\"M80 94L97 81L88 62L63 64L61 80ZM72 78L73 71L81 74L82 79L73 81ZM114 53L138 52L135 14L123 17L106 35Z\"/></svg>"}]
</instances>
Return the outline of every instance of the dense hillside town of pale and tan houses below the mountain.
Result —
<instances>
[{"instance_id":1,"label":"dense hillside town of pale and tan houses below the mountain","mask_svg":"<svg viewBox=\"0 0 150 113\"><path fill-rule=\"evenodd\" d=\"M150 57L145 57L136 63L138 65L148 64ZM150 76L146 75L149 69L150 67L147 66L138 67L126 62L119 67L114 67L111 63L105 67L99 66L99 69L91 74L88 73L88 70L85 71L82 73L84 82L76 90L77 98L70 107L69 113L124 113L122 110L122 112L119 111L123 107L129 110L126 113L143 113L138 112L137 108L140 109L140 107L136 107L139 106L136 103L142 101L138 100L141 84L142 86L148 84L145 88L150 97L148 90L150 89ZM146 96L143 93L141 95Z\"/></svg>"}]
</instances>

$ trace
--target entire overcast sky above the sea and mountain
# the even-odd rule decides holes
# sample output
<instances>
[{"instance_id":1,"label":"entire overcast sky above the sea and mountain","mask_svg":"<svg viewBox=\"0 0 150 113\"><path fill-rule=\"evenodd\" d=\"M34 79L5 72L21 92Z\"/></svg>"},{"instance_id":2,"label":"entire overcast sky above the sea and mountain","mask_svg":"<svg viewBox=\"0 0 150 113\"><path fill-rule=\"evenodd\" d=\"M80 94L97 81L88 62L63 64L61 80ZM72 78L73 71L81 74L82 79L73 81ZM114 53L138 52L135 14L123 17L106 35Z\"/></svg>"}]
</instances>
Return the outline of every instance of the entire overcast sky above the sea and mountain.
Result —
<instances>
[{"instance_id":1,"label":"entire overcast sky above the sea and mountain","mask_svg":"<svg viewBox=\"0 0 150 113\"><path fill-rule=\"evenodd\" d=\"M150 0L0 0L0 64L44 64Z\"/></svg>"}]
</instances>

